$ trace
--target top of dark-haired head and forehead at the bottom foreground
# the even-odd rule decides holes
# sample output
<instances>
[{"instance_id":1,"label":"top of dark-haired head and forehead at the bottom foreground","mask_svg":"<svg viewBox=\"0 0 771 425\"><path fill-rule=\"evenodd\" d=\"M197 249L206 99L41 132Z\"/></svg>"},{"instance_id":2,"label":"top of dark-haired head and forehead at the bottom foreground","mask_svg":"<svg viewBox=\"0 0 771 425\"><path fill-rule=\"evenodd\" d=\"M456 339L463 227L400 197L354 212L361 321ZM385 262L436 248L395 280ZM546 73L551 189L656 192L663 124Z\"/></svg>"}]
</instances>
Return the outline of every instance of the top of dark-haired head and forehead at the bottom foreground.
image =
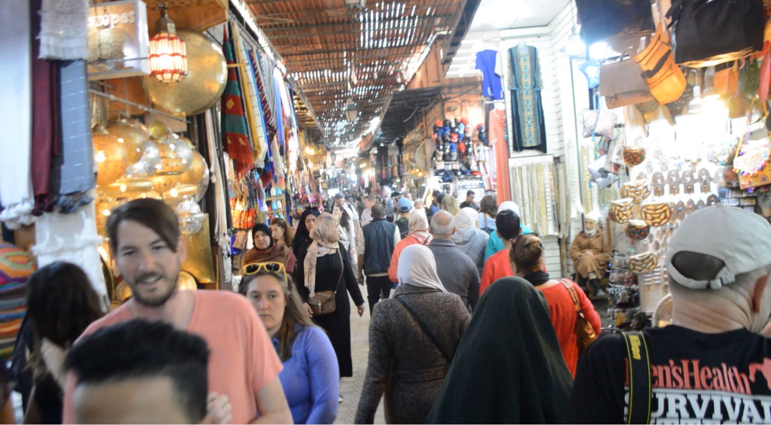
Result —
<instances>
[{"instance_id":1,"label":"top of dark-haired head and forehead at the bottom foreground","mask_svg":"<svg viewBox=\"0 0 771 425\"><path fill-rule=\"evenodd\" d=\"M204 339L135 319L99 329L67 353L77 423L211 423Z\"/></svg>"}]
</instances>

